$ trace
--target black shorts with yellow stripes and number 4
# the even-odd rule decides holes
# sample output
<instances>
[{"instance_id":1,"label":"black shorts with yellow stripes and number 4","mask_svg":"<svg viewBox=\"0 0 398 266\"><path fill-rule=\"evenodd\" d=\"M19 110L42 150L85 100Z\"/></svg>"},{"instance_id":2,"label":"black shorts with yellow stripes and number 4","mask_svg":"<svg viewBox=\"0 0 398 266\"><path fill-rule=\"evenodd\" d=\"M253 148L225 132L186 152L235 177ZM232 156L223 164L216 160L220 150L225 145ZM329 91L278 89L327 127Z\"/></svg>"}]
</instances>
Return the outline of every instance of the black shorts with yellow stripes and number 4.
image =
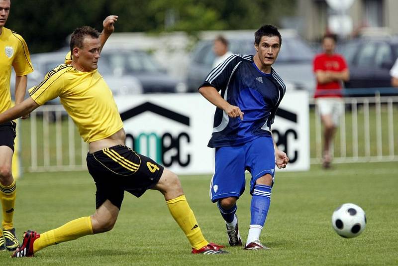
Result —
<instances>
[{"instance_id":1,"label":"black shorts with yellow stripes and number 4","mask_svg":"<svg viewBox=\"0 0 398 266\"><path fill-rule=\"evenodd\" d=\"M87 167L97 186L97 209L107 199L120 209L124 191L140 197L159 181L164 169L123 145L88 153Z\"/></svg>"}]
</instances>

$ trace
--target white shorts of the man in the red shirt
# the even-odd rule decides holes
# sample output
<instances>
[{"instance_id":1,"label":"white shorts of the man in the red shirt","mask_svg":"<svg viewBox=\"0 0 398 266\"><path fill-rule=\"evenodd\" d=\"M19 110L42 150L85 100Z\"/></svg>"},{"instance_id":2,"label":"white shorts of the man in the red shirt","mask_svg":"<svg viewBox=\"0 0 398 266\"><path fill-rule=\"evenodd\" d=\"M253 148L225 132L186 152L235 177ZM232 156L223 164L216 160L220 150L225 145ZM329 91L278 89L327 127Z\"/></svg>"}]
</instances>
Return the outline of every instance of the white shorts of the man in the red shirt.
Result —
<instances>
[{"instance_id":1,"label":"white shorts of the man in the red shirt","mask_svg":"<svg viewBox=\"0 0 398 266\"><path fill-rule=\"evenodd\" d=\"M338 126L339 118L344 111L344 101L339 97L324 97L315 99L318 112L321 116L330 115L333 124Z\"/></svg>"}]
</instances>

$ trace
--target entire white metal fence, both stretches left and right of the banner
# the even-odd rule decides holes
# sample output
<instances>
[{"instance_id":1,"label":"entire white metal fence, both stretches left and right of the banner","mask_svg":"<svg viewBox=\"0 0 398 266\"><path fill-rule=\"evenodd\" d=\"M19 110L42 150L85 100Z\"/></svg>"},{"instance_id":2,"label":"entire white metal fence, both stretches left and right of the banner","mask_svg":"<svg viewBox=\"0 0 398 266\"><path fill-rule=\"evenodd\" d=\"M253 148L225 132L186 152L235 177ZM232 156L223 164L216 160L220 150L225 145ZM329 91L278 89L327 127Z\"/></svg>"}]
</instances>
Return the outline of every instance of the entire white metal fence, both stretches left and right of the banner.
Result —
<instances>
[{"instance_id":1,"label":"entire white metal fence, both stretches left and right of the banner","mask_svg":"<svg viewBox=\"0 0 398 266\"><path fill-rule=\"evenodd\" d=\"M398 161L398 97L345 98L333 145L333 162ZM313 99L310 99L313 107ZM320 163L322 126L310 109L310 161ZM85 143L62 106L42 106L20 123L23 171L86 169Z\"/></svg>"}]
</instances>

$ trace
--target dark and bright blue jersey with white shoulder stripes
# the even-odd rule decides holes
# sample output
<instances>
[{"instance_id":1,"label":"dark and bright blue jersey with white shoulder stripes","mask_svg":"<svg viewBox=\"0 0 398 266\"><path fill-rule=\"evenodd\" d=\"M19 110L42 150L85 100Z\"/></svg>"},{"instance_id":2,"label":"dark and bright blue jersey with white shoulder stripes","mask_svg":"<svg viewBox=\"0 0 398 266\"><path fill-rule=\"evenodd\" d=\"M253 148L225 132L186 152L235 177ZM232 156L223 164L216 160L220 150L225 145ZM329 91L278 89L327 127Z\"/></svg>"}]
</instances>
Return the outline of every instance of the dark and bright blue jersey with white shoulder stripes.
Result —
<instances>
[{"instance_id":1,"label":"dark and bright blue jersey with white shoulder stripes","mask_svg":"<svg viewBox=\"0 0 398 266\"><path fill-rule=\"evenodd\" d=\"M209 147L239 145L272 134L271 124L286 92L273 68L266 74L257 68L252 55L231 55L208 74L202 86L221 91L224 100L244 113L241 121L216 108Z\"/></svg>"}]
</instances>

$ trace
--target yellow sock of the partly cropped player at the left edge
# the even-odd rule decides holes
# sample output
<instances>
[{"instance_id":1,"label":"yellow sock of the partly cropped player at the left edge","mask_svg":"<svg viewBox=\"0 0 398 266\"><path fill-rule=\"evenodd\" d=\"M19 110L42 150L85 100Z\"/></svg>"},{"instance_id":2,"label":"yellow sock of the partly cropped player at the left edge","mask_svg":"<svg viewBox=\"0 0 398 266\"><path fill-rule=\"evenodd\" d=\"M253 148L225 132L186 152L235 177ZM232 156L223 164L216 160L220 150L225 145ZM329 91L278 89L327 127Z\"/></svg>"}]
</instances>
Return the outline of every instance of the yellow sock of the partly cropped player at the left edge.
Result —
<instances>
[{"instance_id":1,"label":"yellow sock of the partly cropped player at the left edge","mask_svg":"<svg viewBox=\"0 0 398 266\"><path fill-rule=\"evenodd\" d=\"M16 196L15 181L9 186L4 186L0 183L0 198L2 206L3 220L1 226L3 229L12 229L12 216L14 215L14 204Z\"/></svg>"}]
</instances>

